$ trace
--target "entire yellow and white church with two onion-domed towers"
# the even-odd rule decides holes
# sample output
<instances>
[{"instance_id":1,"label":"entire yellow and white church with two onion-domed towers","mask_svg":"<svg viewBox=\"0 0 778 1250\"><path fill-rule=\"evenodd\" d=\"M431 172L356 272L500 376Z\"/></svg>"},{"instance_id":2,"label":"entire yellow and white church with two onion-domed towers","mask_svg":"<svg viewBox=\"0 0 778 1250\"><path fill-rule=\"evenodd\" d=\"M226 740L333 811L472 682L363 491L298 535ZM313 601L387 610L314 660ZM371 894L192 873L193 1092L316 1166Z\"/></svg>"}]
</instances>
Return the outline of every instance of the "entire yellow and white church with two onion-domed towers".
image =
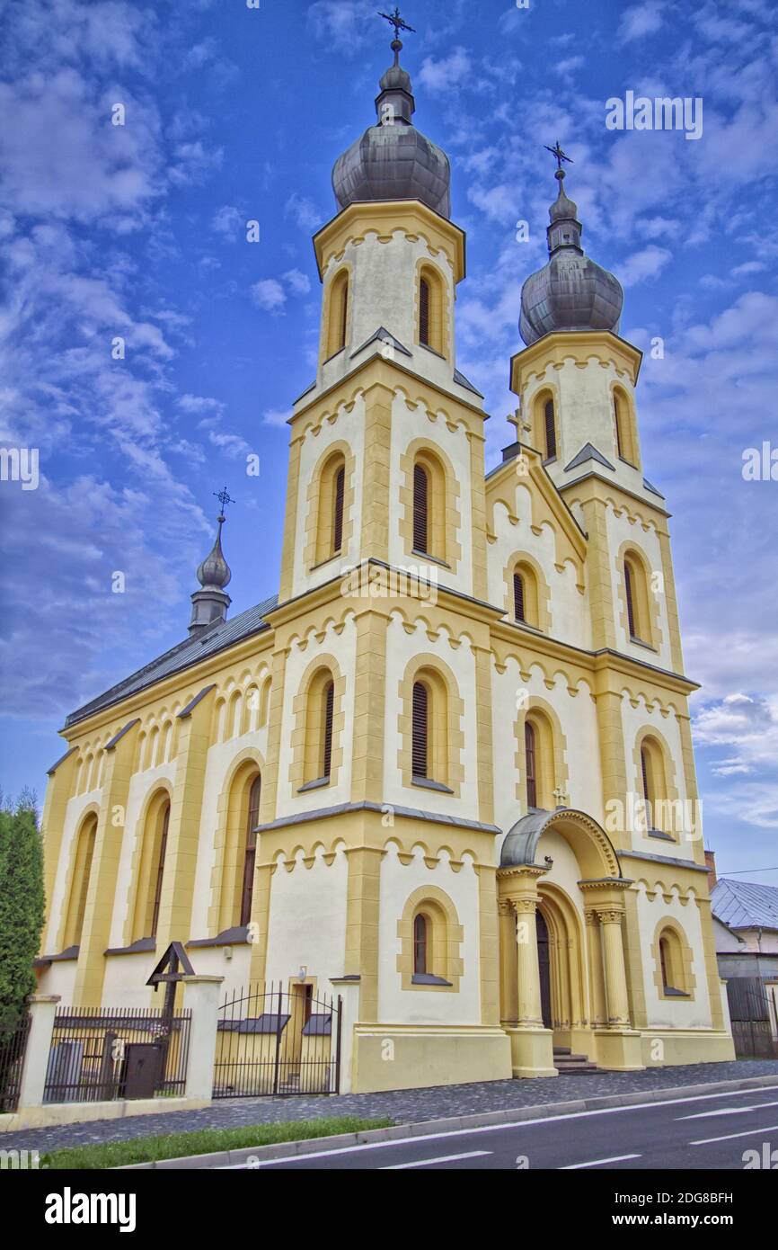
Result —
<instances>
[{"instance_id":1,"label":"entire yellow and white church with two onion-domed towers","mask_svg":"<svg viewBox=\"0 0 778 1250\"><path fill-rule=\"evenodd\" d=\"M512 442L456 369L465 235L398 64L315 236L278 594L67 718L44 811L40 990L150 1005L197 974L343 995L355 1090L733 1058L668 512L641 352L557 171Z\"/></svg>"}]
</instances>

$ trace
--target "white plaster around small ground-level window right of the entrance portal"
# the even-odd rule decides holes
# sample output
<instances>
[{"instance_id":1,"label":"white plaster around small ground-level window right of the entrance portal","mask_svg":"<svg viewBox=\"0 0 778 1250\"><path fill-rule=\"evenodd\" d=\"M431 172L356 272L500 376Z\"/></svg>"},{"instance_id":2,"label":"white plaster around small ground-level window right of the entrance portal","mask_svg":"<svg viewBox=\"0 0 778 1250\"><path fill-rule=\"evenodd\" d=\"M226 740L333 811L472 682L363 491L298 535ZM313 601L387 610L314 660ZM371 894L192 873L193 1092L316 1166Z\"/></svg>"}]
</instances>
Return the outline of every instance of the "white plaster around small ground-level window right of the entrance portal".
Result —
<instances>
[{"instance_id":1,"label":"white plaster around small ground-level window right of the entrance portal","mask_svg":"<svg viewBox=\"0 0 778 1250\"><path fill-rule=\"evenodd\" d=\"M667 902L661 888L656 891L653 900L648 898L644 882L638 882L634 890L637 894L648 1028L711 1029L713 1026L711 998L708 995L708 979L706 976L702 924L694 891L689 891L688 900L682 901L678 888L674 886L669 891L672 895L671 901ZM656 961L651 951L651 945L659 920L664 920L666 918L677 921L686 934L688 945L692 948L692 972L696 979L693 1001L687 1001L686 999L661 999L659 990L654 982Z\"/></svg>"}]
</instances>

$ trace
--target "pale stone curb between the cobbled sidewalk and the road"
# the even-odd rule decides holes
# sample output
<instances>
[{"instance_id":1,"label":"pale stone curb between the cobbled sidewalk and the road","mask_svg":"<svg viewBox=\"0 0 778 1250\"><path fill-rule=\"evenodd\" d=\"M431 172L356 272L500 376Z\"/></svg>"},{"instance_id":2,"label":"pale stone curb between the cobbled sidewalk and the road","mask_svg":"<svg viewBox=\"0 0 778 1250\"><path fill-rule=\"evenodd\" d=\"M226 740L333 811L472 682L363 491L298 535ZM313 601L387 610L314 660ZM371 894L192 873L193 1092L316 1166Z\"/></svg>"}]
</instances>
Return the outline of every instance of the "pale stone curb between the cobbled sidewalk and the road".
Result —
<instances>
[{"instance_id":1,"label":"pale stone curb between the cobbled sidewalk and the road","mask_svg":"<svg viewBox=\"0 0 778 1250\"><path fill-rule=\"evenodd\" d=\"M146 1164L122 1164L110 1171L197 1170L202 1168L230 1168L245 1164L247 1159L267 1161L293 1159L311 1150L338 1150L342 1146L367 1145L371 1141L396 1141L403 1138L423 1138L432 1132L453 1129L481 1129L492 1124L521 1124L542 1120L548 1115L573 1115L579 1111L599 1111L608 1108L634 1106L642 1102L672 1102L677 1098L722 1094L729 1090L756 1090L763 1085L778 1085L776 1076L747 1076L742 1080L713 1081L707 1085L674 1085L669 1089L642 1090L631 1094L611 1094L602 1098L573 1099L568 1102L543 1102L502 1111L478 1111L475 1115L455 1115L440 1120L420 1120L416 1124L395 1124L390 1129L368 1129L365 1132L342 1132L330 1138L305 1138L302 1141L278 1141L270 1146L241 1146L240 1150L219 1150L210 1155L185 1155L181 1159L157 1159Z\"/></svg>"}]
</instances>

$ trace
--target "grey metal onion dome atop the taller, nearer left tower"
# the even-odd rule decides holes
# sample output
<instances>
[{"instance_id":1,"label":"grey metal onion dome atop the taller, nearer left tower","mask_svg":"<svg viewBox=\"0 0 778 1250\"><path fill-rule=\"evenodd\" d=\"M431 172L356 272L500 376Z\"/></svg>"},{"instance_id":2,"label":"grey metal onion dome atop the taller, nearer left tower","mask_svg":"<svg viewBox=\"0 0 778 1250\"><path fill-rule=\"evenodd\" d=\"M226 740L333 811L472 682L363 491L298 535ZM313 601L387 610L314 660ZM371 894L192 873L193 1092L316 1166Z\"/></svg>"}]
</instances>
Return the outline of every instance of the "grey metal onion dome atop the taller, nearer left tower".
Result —
<instances>
[{"instance_id":1,"label":"grey metal onion dome atop the taller, nearer left tower","mask_svg":"<svg viewBox=\"0 0 778 1250\"><path fill-rule=\"evenodd\" d=\"M377 124L368 126L335 162L335 199L338 209L360 200L421 200L450 218L448 158L411 122L416 101L411 76L400 64L401 48L401 41L393 39L395 64L378 84Z\"/></svg>"}]
</instances>

